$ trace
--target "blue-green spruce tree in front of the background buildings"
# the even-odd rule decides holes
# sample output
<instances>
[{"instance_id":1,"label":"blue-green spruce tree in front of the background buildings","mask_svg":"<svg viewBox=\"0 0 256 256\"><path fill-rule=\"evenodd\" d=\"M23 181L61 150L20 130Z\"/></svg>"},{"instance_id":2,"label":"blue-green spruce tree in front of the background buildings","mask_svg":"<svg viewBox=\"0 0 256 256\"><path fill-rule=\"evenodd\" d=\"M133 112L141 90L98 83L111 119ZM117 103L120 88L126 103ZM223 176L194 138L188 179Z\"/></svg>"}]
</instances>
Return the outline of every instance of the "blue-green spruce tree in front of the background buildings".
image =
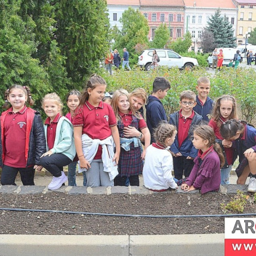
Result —
<instances>
[{"instance_id":1,"label":"blue-green spruce tree in front of the background buildings","mask_svg":"<svg viewBox=\"0 0 256 256\"><path fill-rule=\"evenodd\" d=\"M236 46L236 37L233 36L232 25L224 17L221 17L220 9L209 18L207 29L214 34L217 47Z\"/></svg>"}]
</instances>

